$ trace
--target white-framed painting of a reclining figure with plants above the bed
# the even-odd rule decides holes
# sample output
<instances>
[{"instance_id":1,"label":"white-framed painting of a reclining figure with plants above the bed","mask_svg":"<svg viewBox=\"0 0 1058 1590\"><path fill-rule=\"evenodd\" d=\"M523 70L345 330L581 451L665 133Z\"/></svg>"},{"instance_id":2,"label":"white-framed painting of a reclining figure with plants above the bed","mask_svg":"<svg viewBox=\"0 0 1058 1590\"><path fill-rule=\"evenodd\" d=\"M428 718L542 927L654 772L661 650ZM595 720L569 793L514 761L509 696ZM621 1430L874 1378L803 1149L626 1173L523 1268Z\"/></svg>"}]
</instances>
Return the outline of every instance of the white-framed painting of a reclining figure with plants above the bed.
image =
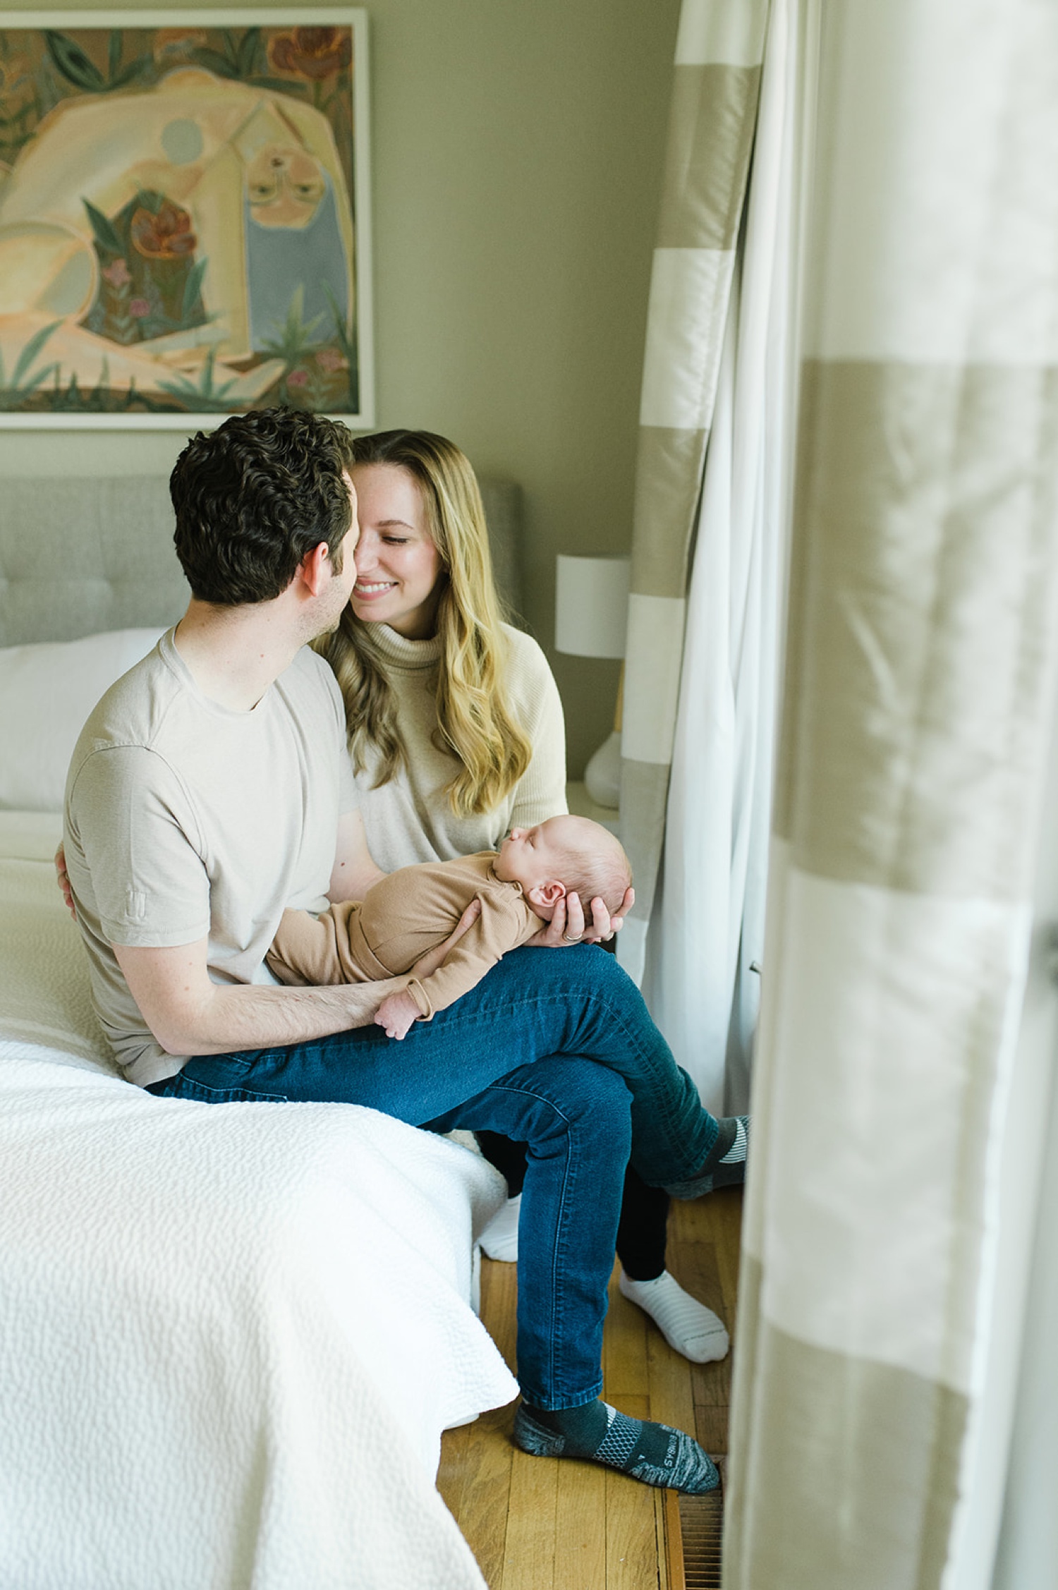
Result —
<instances>
[{"instance_id":1,"label":"white-framed painting of a reclining figure with plants above the bed","mask_svg":"<svg viewBox=\"0 0 1058 1590\"><path fill-rule=\"evenodd\" d=\"M374 423L360 10L0 13L0 426Z\"/></svg>"}]
</instances>

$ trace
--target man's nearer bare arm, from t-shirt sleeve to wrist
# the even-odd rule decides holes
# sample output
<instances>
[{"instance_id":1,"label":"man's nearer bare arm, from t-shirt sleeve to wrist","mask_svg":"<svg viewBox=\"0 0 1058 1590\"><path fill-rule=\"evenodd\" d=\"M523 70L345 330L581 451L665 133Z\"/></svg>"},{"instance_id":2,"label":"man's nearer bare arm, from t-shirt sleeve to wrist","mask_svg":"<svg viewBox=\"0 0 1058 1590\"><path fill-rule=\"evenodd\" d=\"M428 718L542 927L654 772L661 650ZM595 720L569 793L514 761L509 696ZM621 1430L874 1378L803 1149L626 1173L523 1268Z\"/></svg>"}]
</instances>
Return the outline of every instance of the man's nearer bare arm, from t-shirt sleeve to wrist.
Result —
<instances>
[{"instance_id":1,"label":"man's nearer bare arm, from t-shirt sleeve to wrist","mask_svg":"<svg viewBox=\"0 0 1058 1590\"><path fill-rule=\"evenodd\" d=\"M132 999L169 1054L228 1054L305 1043L366 1027L407 978L337 987L291 989L218 984L207 971L207 940L172 949L115 944Z\"/></svg>"}]
</instances>

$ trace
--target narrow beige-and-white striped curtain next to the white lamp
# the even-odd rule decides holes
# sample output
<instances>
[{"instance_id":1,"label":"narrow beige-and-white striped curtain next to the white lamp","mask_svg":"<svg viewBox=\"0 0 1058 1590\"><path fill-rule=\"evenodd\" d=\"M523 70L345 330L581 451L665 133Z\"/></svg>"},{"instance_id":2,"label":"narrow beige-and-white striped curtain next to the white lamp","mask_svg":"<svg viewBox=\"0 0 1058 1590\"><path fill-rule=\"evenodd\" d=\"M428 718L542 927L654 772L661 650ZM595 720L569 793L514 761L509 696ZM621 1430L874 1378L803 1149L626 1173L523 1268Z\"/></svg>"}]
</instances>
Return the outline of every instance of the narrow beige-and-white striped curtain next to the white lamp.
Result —
<instances>
[{"instance_id":1,"label":"narrow beige-and-white striped curtain next to the white lamp","mask_svg":"<svg viewBox=\"0 0 1058 1590\"><path fill-rule=\"evenodd\" d=\"M643 979L665 833L690 544L746 200L768 0L683 0L651 273L625 647L620 838Z\"/></svg>"}]
</instances>

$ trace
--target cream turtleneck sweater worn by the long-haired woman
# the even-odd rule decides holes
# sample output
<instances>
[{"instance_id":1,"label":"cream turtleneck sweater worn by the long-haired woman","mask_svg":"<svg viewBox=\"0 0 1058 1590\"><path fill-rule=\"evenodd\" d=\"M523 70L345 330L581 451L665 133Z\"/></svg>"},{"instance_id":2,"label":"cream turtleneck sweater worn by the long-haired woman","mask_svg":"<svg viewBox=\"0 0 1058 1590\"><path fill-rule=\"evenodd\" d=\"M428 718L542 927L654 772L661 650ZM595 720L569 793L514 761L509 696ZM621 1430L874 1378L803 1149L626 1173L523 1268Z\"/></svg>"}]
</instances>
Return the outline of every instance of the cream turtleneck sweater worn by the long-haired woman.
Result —
<instances>
[{"instance_id":1,"label":"cream turtleneck sweater worn by the long-haired woman","mask_svg":"<svg viewBox=\"0 0 1058 1590\"><path fill-rule=\"evenodd\" d=\"M522 779L495 811L457 817L444 793L455 757L439 750L434 669L441 641L406 641L383 623L366 625L372 649L396 696L407 762L380 789L372 766L356 774L368 849L375 867L391 873L414 862L447 862L495 851L512 827L530 827L566 809L565 725L558 687L536 641L504 623L509 642L508 700L533 747Z\"/></svg>"}]
</instances>

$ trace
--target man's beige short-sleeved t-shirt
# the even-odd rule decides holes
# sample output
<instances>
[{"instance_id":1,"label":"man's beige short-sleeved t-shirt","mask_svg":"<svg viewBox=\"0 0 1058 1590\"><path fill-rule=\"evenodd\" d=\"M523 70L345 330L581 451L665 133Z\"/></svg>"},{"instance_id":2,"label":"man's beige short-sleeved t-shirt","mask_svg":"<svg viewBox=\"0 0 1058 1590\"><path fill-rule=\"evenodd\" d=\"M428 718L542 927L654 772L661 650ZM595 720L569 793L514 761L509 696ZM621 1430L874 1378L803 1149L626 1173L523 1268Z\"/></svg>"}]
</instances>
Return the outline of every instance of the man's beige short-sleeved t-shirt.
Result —
<instances>
[{"instance_id":1,"label":"man's beige short-sleeved t-shirt","mask_svg":"<svg viewBox=\"0 0 1058 1590\"><path fill-rule=\"evenodd\" d=\"M340 693L307 649L248 712L202 695L172 630L107 692L70 762L64 843L92 1000L130 1081L188 1056L154 1041L111 944L207 938L215 983L274 983L283 908L326 906L355 806Z\"/></svg>"}]
</instances>

